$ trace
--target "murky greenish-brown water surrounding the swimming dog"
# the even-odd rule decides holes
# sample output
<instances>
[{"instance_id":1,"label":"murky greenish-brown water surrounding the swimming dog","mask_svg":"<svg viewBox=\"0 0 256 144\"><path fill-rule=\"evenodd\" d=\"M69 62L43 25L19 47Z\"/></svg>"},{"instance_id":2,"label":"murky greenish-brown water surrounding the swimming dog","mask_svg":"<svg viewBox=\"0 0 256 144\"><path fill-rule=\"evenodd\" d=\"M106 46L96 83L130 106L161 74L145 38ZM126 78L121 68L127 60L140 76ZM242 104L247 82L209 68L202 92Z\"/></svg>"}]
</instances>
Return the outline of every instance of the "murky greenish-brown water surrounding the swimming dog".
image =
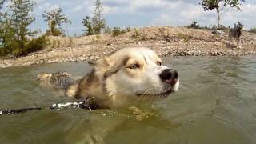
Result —
<instances>
[{"instance_id":1,"label":"murky greenish-brown water surrounding the swimming dog","mask_svg":"<svg viewBox=\"0 0 256 144\"><path fill-rule=\"evenodd\" d=\"M178 93L124 110L40 110L0 117L0 143L256 143L255 58L163 58ZM82 76L86 62L0 70L0 109L67 102L34 82L40 72Z\"/></svg>"}]
</instances>

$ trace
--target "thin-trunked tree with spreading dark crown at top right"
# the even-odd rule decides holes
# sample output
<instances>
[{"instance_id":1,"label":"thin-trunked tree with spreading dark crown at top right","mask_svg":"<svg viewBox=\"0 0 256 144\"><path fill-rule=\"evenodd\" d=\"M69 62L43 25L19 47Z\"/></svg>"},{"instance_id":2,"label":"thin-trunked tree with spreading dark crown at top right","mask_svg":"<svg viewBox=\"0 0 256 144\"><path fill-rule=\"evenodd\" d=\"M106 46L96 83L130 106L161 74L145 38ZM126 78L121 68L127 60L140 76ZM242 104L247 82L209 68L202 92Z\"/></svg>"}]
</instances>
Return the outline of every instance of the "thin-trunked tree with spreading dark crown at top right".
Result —
<instances>
[{"instance_id":1,"label":"thin-trunked tree with spreading dark crown at top right","mask_svg":"<svg viewBox=\"0 0 256 144\"><path fill-rule=\"evenodd\" d=\"M238 11L241 11L240 6L242 6L242 2L245 2L245 0L202 0L199 4L205 11L216 10L218 28L220 28L221 13L224 8L230 6L231 8L236 8Z\"/></svg>"}]
</instances>

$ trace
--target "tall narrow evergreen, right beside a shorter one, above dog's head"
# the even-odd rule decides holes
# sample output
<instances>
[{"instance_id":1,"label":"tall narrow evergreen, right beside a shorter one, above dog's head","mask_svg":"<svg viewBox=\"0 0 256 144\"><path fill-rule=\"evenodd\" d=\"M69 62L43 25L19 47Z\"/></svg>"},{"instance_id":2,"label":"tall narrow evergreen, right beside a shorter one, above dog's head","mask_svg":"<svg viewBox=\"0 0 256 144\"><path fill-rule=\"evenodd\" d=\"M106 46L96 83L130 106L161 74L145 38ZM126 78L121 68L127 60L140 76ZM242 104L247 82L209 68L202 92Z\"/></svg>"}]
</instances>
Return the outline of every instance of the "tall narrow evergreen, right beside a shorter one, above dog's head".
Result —
<instances>
[{"instance_id":1,"label":"tall narrow evergreen, right beside a shorter one, above dog's head","mask_svg":"<svg viewBox=\"0 0 256 144\"><path fill-rule=\"evenodd\" d=\"M94 34L101 34L102 30L106 27L106 21L103 18L103 7L100 0L95 2L94 17L92 18L92 26L94 28Z\"/></svg>"}]
</instances>

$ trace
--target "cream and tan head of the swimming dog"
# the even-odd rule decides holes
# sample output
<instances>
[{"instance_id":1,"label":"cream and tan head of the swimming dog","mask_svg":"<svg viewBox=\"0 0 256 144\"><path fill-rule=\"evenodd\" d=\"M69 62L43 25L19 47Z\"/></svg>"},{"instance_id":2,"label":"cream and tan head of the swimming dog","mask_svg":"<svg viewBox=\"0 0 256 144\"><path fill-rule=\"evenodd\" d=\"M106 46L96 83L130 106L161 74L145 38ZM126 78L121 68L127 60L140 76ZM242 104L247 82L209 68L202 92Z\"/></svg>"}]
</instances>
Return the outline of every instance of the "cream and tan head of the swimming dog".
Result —
<instances>
[{"instance_id":1,"label":"cream and tan head of the swimming dog","mask_svg":"<svg viewBox=\"0 0 256 144\"><path fill-rule=\"evenodd\" d=\"M166 98L178 90L178 72L163 66L161 58L147 48L118 50L93 65L102 78L102 91L114 101Z\"/></svg>"}]
</instances>

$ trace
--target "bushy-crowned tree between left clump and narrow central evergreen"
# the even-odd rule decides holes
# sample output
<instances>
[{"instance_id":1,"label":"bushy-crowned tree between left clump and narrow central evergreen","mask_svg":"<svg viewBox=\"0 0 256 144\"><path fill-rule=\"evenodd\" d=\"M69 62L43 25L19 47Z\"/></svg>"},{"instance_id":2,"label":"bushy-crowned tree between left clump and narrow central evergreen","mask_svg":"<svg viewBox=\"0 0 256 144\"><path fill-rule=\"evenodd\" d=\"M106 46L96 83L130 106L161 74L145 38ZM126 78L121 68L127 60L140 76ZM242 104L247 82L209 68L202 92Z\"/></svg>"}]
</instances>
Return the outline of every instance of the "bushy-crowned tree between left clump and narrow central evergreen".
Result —
<instances>
[{"instance_id":1,"label":"bushy-crowned tree between left clump and narrow central evergreen","mask_svg":"<svg viewBox=\"0 0 256 144\"><path fill-rule=\"evenodd\" d=\"M48 24L48 29L46 34L59 36L64 35L64 30L62 30L61 25L62 23L71 23L68 18L64 14L62 14L62 9L57 8L50 11L45 11L44 14L42 14L42 18L45 18L44 20Z\"/></svg>"}]
</instances>

